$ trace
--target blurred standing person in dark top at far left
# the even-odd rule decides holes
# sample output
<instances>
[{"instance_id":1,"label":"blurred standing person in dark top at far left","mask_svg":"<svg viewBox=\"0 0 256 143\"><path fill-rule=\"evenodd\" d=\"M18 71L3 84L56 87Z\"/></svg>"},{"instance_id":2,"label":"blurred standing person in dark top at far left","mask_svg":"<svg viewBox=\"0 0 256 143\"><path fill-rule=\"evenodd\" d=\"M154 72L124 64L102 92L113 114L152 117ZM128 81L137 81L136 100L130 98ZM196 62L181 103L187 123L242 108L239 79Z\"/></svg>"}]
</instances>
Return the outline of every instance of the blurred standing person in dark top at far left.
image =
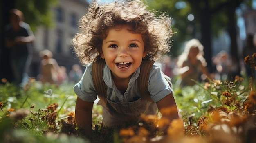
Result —
<instances>
[{"instance_id":1,"label":"blurred standing person in dark top at far left","mask_svg":"<svg viewBox=\"0 0 256 143\"><path fill-rule=\"evenodd\" d=\"M10 24L5 27L5 47L10 49L10 66L13 83L22 86L28 81L28 69L32 59L32 42L35 37L29 24L23 22L23 13L10 10Z\"/></svg>"}]
</instances>

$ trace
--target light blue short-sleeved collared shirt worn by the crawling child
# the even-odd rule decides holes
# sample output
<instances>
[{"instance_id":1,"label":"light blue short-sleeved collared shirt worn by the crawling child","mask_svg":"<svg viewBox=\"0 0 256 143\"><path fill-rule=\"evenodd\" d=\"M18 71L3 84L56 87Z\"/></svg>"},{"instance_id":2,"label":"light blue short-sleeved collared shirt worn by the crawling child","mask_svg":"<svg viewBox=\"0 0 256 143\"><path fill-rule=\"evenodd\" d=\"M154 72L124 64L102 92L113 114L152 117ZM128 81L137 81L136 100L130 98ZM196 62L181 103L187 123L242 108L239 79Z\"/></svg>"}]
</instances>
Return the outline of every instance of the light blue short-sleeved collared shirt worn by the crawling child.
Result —
<instances>
[{"instance_id":1,"label":"light blue short-sleeved collared shirt worn by the crawling child","mask_svg":"<svg viewBox=\"0 0 256 143\"><path fill-rule=\"evenodd\" d=\"M132 102L141 97L137 89L137 78L139 77L139 73L140 68L133 73L128 83L127 90L123 95L115 86L112 80L111 71L105 64L103 68L103 80L108 87L108 100L115 103ZM158 102L165 96L173 93L173 89L169 86L168 82L164 78L164 75L162 74L163 73L161 72L160 67L154 64L148 79L148 91L150 92L151 99L154 102ZM93 102L95 99L97 99L97 92L95 91L92 81L92 63L86 66L81 81L74 86L74 92L83 101Z\"/></svg>"}]
</instances>

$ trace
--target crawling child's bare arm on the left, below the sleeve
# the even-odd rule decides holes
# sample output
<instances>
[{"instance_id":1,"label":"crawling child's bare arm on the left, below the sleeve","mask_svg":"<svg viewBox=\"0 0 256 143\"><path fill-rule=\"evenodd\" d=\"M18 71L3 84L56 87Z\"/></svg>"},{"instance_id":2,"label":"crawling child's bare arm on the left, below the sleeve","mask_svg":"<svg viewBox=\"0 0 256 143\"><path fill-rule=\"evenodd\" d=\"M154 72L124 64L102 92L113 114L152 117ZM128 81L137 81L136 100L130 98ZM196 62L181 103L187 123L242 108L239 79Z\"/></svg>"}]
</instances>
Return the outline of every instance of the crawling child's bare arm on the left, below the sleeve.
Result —
<instances>
[{"instance_id":1,"label":"crawling child's bare arm on the left, below the sleeve","mask_svg":"<svg viewBox=\"0 0 256 143\"><path fill-rule=\"evenodd\" d=\"M92 107L93 102L86 102L77 97L75 119L78 128L86 134L92 131Z\"/></svg>"}]
</instances>

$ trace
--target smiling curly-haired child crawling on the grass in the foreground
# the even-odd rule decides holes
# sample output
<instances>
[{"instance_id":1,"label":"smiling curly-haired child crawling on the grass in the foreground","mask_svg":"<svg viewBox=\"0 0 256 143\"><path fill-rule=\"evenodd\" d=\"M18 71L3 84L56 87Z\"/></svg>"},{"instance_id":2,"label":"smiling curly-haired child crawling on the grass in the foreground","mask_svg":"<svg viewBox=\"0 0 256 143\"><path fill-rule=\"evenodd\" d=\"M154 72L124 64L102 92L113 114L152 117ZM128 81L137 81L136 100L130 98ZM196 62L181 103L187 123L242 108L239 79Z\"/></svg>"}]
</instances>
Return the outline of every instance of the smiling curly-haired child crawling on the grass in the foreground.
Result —
<instances>
[{"instance_id":1,"label":"smiling curly-haired child crawling on the grass in the foreground","mask_svg":"<svg viewBox=\"0 0 256 143\"><path fill-rule=\"evenodd\" d=\"M106 126L138 122L145 112L156 114L156 105L160 112L174 107L173 114L163 115L170 122L182 119L173 89L158 66L153 65L145 83L153 102L142 97L137 89L141 62L157 59L168 51L173 34L170 24L171 18L150 13L140 0L91 4L80 20L80 33L73 39L75 53L87 65L81 81L74 86L78 96L75 117L80 129L91 130L92 107L97 98L92 65L100 60L106 62L100 73L107 86L106 101L99 101Z\"/></svg>"}]
</instances>

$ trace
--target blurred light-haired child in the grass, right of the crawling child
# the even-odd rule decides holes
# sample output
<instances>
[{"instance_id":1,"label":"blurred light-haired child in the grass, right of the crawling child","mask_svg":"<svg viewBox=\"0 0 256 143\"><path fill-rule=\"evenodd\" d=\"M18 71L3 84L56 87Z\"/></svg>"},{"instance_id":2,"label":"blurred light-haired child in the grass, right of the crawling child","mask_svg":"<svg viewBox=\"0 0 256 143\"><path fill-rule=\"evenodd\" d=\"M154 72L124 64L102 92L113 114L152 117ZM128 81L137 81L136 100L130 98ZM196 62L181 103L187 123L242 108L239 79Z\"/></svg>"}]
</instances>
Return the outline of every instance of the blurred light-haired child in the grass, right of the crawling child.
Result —
<instances>
[{"instance_id":1,"label":"blurred light-haired child in the grass, right of the crawling child","mask_svg":"<svg viewBox=\"0 0 256 143\"><path fill-rule=\"evenodd\" d=\"M186 42L183 53L178 57L177 67L182 81L181 86L193 86L195 81L199 81L200 74L211 77L209 71L205 66L204 46L197 39L191 39ZM192 81L194 79L195 81Z\"/></svg>"}]
</instances>

